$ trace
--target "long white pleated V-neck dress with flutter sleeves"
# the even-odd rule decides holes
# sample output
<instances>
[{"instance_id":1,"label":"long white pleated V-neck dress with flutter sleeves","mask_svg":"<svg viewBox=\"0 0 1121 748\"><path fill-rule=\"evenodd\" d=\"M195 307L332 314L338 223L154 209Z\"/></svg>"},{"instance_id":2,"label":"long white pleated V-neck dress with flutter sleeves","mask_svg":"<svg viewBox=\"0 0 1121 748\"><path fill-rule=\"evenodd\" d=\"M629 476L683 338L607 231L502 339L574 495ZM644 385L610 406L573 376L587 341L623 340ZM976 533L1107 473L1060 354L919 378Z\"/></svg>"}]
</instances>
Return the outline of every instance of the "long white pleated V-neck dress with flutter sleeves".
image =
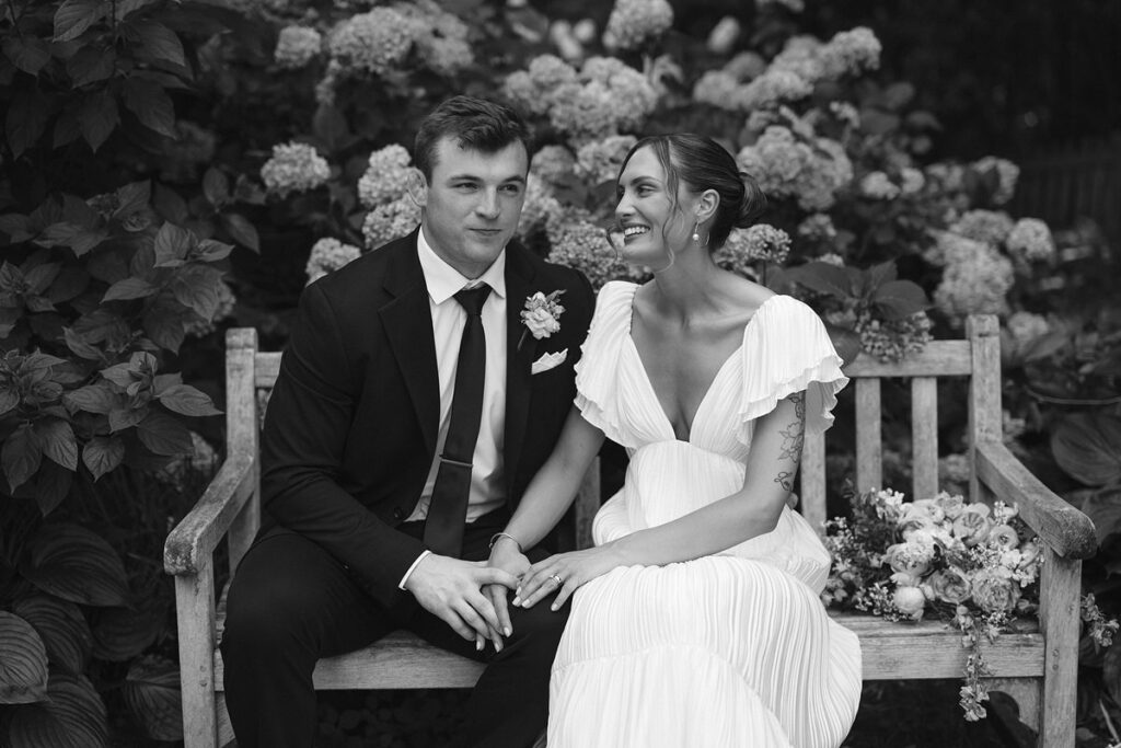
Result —
<instances>
[{"instance_id":1,"label":"long white pleated V-neck dress with flutter sleeves","mask_svg":"<svg viewBox=\"0 0 1121 748\"><path fill-rule=\"evenodd\" d=\"M600 292L577 367L576 405L630 454L622 490L595 517L596 545L739 490L756 418L807 390L806 427L822 431L847 382L817 315L773 296L717 372L689 441L677 440L630 336L636 289ZM773 532L721 554L585 584L553 664L549 748L841 745L860 701L860 644L817 597L828 566L787 508Z\"/></svg>"}]
</instances>

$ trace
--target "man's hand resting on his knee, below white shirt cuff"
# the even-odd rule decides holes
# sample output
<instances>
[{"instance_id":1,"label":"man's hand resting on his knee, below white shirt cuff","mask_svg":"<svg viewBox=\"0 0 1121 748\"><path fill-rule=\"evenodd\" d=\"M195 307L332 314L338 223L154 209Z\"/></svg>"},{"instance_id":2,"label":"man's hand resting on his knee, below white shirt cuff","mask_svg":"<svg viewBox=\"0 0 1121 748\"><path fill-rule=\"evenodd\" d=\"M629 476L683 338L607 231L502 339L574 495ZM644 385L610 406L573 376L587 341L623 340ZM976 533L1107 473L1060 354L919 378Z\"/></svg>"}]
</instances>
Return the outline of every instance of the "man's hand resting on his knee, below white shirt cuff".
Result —
<instances>
[{"instance_id":1,"label":"man's hand resting on his knee, below white shirt cuff","mask_svg":"<svg viewBox=\"0 0 1121 748\"><path fill-rule=\"evenodd\" d=\"M428 554L405 582L405 589L434 616L444 620L467 641L482 643L498 636L501 624L494 606L482 593L487 584L509 589L518 578L484 561L463 561ZM479 647L482 649L482 647Z\"/></svg>"}]
</instances>

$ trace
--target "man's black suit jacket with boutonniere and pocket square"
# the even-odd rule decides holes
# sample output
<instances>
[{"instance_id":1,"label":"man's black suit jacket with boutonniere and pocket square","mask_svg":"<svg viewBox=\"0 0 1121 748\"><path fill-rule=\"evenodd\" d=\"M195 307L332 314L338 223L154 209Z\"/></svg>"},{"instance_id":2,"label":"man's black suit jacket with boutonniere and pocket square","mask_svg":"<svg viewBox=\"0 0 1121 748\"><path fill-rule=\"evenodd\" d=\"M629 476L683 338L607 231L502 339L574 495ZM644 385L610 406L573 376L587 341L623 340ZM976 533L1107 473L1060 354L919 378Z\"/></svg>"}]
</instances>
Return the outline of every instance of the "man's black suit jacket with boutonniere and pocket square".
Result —
<instances>
[{"instance_id":1,"label":"man's black suit jacket with boutonniere and pocket square","mask_svg":"<svg viewBox=\"0 0 1121 748\"><path fill-rule=\"evenodd\" d=\"M265 528L278 523L324 546L386 606L398 601L398 582L424 551L395 526L420 497L439 421L436 341L416 237L373 250L304 290L261 435ZM516 242L506 251L503 458L512 506L572 406L573 364L595 298L576 270L544 262ZM522 339L526 297L558 288L565 289L560 330ZM543 353L564 349L564 363L530 375Z\"/></svg>"}]
</instances>

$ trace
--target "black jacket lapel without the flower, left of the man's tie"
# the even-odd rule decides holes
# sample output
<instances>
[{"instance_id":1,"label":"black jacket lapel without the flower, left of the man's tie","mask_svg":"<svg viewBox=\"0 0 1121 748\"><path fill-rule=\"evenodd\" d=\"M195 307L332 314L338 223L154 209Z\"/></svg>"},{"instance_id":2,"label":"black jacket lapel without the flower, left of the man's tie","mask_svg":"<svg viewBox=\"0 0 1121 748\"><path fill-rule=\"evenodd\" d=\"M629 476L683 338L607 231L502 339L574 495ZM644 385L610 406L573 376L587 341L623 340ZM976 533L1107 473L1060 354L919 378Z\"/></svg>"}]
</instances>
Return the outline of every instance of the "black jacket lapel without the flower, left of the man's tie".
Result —
<instances>
[{"instance_id":1,"label":"black jacket lapel without the flower, left of the man's tie","mask_svg":"<svg viewBox=\"0 0 1121 748\"><path fill-rule=\"evenodd\" d=\"M387 247L379 251L396 249ZM393 297L379 310L386 338L413 399L425 446L429 454L435 454L439 426L439 379L428 288L417 258L416 232L404 241L400 251L388 265L385 286Z\"/></svg>"}]
</instances>

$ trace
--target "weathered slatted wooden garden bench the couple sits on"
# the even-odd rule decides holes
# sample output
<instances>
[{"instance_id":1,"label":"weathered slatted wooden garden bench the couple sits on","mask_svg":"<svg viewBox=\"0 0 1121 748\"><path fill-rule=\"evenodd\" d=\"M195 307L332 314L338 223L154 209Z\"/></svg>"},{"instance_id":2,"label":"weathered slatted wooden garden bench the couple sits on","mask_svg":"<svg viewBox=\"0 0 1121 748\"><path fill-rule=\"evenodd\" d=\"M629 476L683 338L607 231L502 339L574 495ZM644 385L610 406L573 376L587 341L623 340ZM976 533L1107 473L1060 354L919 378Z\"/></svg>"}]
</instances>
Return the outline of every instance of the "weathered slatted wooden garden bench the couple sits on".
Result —
<instances>
[{"instance_id":1,"label":"weathered slatted wooden garden bench the couple sits on","mask_svg":"<svg viewBox=\"0 0 1121 748\"><path fill-rule=\"evenodd\" d=\"M912 496L937 489L937 378L969 379L970 500L1000 498L1020 507L1045 547L1039 625L985 645L990 687L1017 699L1021 719L1039 731L1039 746L1073 748L1080 630L1081 558L1095 551L1093 525L1048 490L1001 442L1000 339L995 317L972 317L964 340L936 341L899 363L861 357L845 367L855 387L856 484L881 487L880 386L910 379ZM226 335L226 460L195 508L167 538L165 569L175 575L179 667L186 748L225 745L232 733L222 694L222 606L214 581L214 551L223 537L230 571L260 521L258 424L262 395L272 386L279 353L257 350L253 330ZM844 428L839 423L837 431ZM833 432L831 432L833 433ZM825 520L825 437L807 438L800 478L802 511ZM906 489L907 487L891 487ZM591 536L600 504L599 470L584 479L575 509L578 545ZM871 616L835 613L854 630L863 650L864 680L960 678L967 650L961 634L941 621L892 624ZM317 689L467 687L481 666L398 632L365 649L319 662Z\"/></svg>"}]
</instances>

